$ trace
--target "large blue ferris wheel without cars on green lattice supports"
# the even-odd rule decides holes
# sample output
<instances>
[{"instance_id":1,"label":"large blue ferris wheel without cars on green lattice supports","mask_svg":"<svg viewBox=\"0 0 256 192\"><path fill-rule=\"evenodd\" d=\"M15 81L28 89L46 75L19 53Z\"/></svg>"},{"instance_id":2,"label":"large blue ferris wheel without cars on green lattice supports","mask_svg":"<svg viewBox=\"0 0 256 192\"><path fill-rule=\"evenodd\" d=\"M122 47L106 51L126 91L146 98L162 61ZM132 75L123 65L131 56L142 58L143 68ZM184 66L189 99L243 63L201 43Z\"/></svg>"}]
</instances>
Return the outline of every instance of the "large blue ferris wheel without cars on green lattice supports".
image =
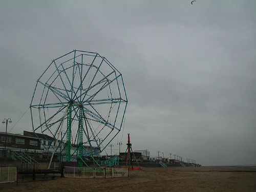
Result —
<instances>
[{"instance_id":1,"label":"large blue ferris wheel without cars on green lattice supports","mask_svg":"<svg viewBox=\"0 0 256 192\"><path fill-rule=\"evenodd\" d=\"M73 50L52 60L36 81L32 127L48 141L41 143L48 151L60 146L56 141L66 142L66 160L71 161L102 152L120 132L126 106L122 74L110 61Z\"/></svg>"}]
</instances>

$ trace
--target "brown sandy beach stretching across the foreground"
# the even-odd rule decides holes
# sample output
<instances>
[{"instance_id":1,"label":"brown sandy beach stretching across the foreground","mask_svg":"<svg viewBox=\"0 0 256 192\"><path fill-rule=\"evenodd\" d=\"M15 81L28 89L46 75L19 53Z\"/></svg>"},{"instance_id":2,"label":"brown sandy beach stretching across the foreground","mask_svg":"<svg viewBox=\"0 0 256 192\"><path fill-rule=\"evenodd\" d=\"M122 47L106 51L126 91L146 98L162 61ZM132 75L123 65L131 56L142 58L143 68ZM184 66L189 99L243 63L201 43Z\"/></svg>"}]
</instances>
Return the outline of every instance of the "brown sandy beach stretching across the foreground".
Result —
<instances>
[{"instance_id":1,"label":"brown sandy beach stretching across the foreground","mask_svg":"<svg viewBox=\"0 0 256 192\"><path fill-rule=\"evenodd\" d=\"M126 178L60 178L0 184L0 191L256 191L256 167L141 167Z\"/></svg>"}]
</instances>

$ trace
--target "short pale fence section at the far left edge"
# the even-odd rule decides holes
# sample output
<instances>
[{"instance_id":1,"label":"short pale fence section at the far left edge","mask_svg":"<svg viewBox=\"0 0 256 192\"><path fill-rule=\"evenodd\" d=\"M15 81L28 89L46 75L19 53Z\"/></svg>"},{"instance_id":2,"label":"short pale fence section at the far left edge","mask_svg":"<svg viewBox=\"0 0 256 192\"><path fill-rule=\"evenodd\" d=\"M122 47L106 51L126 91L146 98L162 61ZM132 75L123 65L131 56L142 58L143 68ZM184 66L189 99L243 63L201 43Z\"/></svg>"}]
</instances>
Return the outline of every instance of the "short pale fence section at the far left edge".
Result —
<instances>
[{"instance_id":1,"label":"short pale fence section at the far left edge","mask_svg":"<svg viewBox=\"0 0 256 192\"><path fill-rule=\"evenodd\" d=\"M0 183L17 181L17 167L0 167Z\"/></svg>"}]
</instances>

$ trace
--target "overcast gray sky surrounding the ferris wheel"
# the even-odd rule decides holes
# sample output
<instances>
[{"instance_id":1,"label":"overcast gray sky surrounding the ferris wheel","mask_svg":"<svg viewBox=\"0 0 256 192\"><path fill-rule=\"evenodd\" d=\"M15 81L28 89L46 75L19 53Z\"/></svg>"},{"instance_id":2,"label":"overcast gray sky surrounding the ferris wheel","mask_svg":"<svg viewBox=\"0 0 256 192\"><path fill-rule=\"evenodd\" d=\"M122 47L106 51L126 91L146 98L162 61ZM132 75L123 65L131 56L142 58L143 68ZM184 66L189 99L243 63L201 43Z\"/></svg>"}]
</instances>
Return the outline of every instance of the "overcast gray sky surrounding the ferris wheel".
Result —
<instances>
[{"instance_id":1,"label":"overcast gray sky surrounding the ferris wheel","mask_svg":"<svg viewBox=\"0 0 256 192\"><path fill-rule=\"evenodd\" d=\"M0 117L12 119L8 130L52 59L92 51L123 75L122 151L130 133L133 150L153 156L256 164L256 1L190 2L0 1ZM32 130L29 111L10 132L23 130Z\"/></svg>"}]
</instances>

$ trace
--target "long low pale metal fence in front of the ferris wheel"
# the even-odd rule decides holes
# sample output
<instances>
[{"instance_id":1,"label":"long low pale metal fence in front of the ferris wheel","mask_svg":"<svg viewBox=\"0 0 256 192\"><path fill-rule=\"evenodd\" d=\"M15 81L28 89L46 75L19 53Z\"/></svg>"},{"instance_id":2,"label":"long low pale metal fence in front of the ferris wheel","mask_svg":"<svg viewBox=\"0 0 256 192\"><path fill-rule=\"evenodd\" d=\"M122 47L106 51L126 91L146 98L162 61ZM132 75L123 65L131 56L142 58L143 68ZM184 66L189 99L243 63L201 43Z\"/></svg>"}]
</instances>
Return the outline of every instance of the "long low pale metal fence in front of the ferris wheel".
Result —
<instances>
[{"instance_id":1,"label":"long low pale metal fence in front of the ferris wheel","mask_svg":"<svg viewBox=\"0 0 256 192\"><path fill-rule=\"evenodd\" d=\"M94 178L94 177L128 177L128 168L109 167L64 167L64 177Z\"/></svg>"}]
</instances>

